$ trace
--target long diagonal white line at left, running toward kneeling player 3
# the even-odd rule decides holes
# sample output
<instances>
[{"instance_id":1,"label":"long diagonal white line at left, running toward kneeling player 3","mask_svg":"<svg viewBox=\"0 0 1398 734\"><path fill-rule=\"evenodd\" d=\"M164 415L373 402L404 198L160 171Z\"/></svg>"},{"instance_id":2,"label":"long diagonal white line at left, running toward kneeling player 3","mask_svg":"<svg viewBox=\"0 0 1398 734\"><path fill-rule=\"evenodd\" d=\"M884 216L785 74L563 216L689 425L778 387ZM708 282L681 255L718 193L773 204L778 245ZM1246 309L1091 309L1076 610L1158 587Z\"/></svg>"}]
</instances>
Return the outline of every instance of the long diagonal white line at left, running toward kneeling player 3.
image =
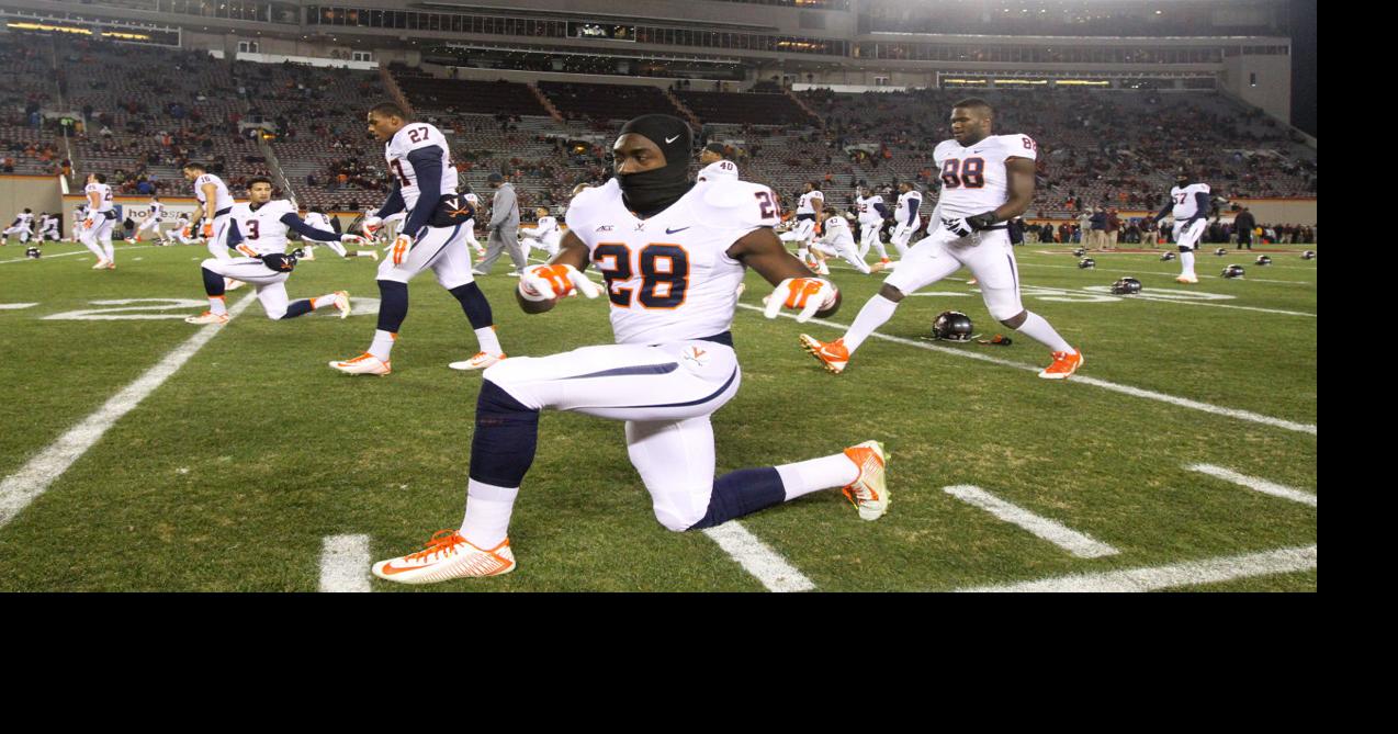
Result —
<instances>
[{"instance_id":1,"label":"long diagonal white line at left, running toward kneeling player 3","mask_svg":"<svg viewBox=\"0 0 1398 734\"><path fill-rule=\"evenodd\" d=\"M247 306L256 301L256 295L247 294L246 298L235 303L228 309L229 319L238 316ZM91 449L102 435L112 428L116 421L122 419L123 415L130 412L133 408L141 404L147 396L155 391L157 387L165 383L185 366L194 352L197 352L208 340L214 338L218 331L222 330L219 324L210 324L194 333L183 344L172 350L165 355L155 366L145 370L144 375L136 379L136 382L127 384L120 393L112 396L101 408L80 421L77 425L69 429L67 433L59 436L57 440L50 443L42 452L39 452L34 459L31 459L20 471L15 471L10 477L6 477L0 482L0 527L4 527L14 520L15 514L20 514L31 502L34 502L39 495L42 495L55 480L63 475L64 471L73 466L88 449Z\"/></svg>"}]
</instances>

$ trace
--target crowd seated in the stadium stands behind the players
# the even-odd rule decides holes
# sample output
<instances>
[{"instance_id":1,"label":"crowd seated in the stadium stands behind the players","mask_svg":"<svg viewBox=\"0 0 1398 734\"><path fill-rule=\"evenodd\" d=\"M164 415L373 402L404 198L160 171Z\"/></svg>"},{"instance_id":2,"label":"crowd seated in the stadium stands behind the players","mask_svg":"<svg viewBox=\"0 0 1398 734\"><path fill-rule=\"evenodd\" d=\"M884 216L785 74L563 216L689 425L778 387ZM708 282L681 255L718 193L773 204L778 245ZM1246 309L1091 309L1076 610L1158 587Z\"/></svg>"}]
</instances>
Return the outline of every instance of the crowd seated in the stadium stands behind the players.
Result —
<instances>
[{"instance_id":1,"label":"crowd seated in the stadium stands behind the players","mask_svg":"<svg viewBox=\"0 0 1398 734\"><path fill-rule=\"evenodd\" d=\"M382 144L363 123L368 102L391 99L376 71L73 39L0 38L0 63L15 70L0 88L4 172L69 172L78 185L88 172L105 172L120 193L180 194L189 186L179 172L186 161L206 162L238 189L273 168L270 150L306 206L377 206L391 187ZM576 183L605 180L617 120L685 115L672 99L702 122L696 145L724 144L744 178L772 186L788 210L807 180L821 183L836 206L850 206L861 185L892 200L900 182L935 199L932 150L951 137L952 102L969 94L821 89L793 98L773 84L740 94L677 82L667 92L436 78L407 67L393 74L415 113L447 134L463 180L488 199L485 178L506 173L526 210L561 207ZM1069 218L1095 207L1158 210L1181 164L1225 199L1316 196L1314 150L1261 112L1211 92L981 96L995 106L995 133L1025 133L1039 144L1030 218ZM73 119L64 129L62 116L48 112Z\"/></svg>"}]
</instances>

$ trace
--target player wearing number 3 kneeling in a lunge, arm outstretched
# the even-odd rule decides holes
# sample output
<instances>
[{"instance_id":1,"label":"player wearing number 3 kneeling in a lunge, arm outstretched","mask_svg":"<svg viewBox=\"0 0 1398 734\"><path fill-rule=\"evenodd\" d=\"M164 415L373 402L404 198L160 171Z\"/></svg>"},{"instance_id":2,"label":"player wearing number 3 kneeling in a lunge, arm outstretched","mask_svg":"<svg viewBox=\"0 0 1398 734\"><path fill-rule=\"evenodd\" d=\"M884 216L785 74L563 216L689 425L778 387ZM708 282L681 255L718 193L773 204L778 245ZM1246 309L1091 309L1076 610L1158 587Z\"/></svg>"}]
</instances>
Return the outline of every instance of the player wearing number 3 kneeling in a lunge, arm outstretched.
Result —
<instances>
[{"instance_id":1,"label":"player wearing number 3 kneeling in a lunge, arm outstretched","mask_svg":"<svg viewBox=\"0 0 1398 734\"><path fill-rule=\"evenodd\" d=\"M247 182L247 194L250 199L247 204L233 204L229 213L229 231L225 235L229 246L242 257L226 260L210 257L200 264L204 273L204 292L208 295L208 310L199 316L190 316L185 322L192 324L228 323L228 306L224 302L226 278L253 284L257 288L257 301L261 301L263 310L271 320L295 319L324 306L340 309L341 319L350 316L350 294L344 291L294 303L287 302L285 282L291 277L292 268L296 267L296 256L287 254L287 229L295 229L303 238L324 242L340 253L340 257L347 256L341 242L361 245L363 238L337 235L306 225L296 215L295 204L285 199L271 200L271 179L252 179Z\"/></svg>"}]
</instances>

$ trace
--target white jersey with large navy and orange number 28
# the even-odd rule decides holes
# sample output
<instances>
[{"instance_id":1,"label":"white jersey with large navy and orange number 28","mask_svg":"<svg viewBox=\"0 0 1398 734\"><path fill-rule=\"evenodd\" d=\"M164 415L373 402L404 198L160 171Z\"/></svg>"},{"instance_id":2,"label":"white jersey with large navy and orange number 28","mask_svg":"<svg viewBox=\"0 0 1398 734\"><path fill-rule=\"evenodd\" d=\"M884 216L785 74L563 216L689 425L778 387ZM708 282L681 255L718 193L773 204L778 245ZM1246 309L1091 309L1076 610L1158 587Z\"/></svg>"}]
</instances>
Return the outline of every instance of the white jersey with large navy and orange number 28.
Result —
<instances>
[{"instance_id":1,"label":"white jersey with large navy and orange number 28","mask_svg":"<svg viewBox=\"0 0 1398 734\"><path fill-rule=\"evenodd\" d=\"M716 179L695 186L649 220L622 203L617 179L579 193L568 228L607 280L618 344L663 344L727 331L742 263L740 238L780 221L777 197L758 183Z\"/></svg>"}]
</instances>

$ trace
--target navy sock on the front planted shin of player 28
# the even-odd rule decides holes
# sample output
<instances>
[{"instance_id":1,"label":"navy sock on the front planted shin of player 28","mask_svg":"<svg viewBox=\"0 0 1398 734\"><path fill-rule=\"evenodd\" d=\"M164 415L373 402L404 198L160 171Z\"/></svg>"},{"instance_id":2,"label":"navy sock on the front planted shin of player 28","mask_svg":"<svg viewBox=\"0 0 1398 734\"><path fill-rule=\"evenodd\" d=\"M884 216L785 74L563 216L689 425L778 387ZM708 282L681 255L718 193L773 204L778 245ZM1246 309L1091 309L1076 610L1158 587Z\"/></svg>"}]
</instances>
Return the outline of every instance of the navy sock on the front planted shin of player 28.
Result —
<instances>
[{"instance_id":1,"label":"navy sock on the front planted shin of player 28","mask_svg":"<svg viewBox=\"0 0 1398 734\"><path fill-rule=\"evenodd\" d=\"M471 478L495 487L519 487L534 463L537 446L538 411L485 380L475 400Z\"/></svg>"}]
</instances>

